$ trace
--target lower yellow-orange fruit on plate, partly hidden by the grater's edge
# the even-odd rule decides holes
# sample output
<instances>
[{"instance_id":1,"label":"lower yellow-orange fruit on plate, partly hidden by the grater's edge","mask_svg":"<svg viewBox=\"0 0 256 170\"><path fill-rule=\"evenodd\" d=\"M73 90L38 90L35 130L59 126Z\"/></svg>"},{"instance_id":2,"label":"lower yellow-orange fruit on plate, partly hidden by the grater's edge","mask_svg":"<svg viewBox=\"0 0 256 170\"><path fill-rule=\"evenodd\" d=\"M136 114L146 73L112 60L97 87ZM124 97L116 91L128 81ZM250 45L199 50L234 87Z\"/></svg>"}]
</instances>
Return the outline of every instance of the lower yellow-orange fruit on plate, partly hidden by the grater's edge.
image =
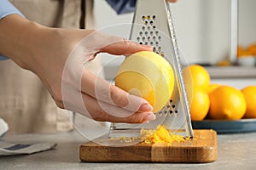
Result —
<instances>
[{"instance_id":1,"label":"lower yellow-orange fruit on plate, partly hidden by the grater's edge","mask_svg":"<svg viewBox=\"0 0 256 170\"><path fill-rule=\"evenodd\" d=\"M203 120L209 111L210 99L204 88L193 88L193 96L190 105L190 116L192 121Z\"/></svg>"}]
</instances>

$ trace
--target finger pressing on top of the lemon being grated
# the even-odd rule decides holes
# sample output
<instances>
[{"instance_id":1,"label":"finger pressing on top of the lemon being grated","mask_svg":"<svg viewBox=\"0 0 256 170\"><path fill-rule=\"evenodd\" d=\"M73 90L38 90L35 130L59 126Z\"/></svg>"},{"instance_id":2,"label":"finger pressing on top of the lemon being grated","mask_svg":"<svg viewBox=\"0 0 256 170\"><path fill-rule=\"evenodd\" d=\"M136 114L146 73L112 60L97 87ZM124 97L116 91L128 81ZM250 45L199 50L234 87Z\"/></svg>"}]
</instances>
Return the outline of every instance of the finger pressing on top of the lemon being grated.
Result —
<instances>
[{"instance_id":1,"label":"finger pressing on top of the lemon being grated","mask_svg":"<svg viewBox=\"0 0 256 170\"><path fill-rule=\"evenodd\" d=\"M131 42L129 40L120 39L119 42L113 42L100 49L100 52L123 55L123 54L134 54L139 51L152 51L153 48L148 45L142 45L137 42Z\"/></svg>"}]
</instances>

